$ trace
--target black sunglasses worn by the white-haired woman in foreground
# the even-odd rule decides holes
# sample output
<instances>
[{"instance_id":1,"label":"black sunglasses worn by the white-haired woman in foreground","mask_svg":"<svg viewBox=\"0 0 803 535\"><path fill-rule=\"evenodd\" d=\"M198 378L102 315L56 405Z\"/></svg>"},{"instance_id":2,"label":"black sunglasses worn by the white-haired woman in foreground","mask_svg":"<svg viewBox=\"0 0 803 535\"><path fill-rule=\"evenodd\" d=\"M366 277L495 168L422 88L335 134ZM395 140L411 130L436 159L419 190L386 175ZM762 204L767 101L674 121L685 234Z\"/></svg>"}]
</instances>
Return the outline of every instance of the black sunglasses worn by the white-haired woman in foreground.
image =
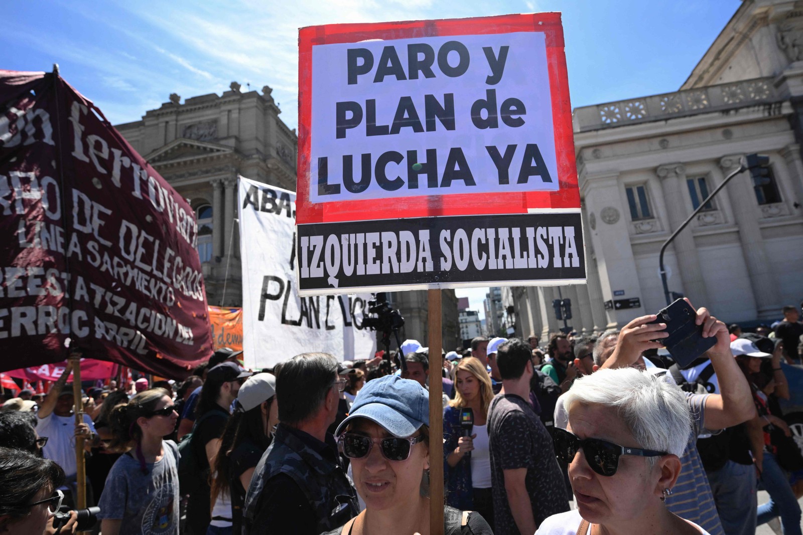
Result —
<instances>
[{"instance_id":1,"label":"black sunglasses worn by the white-haired woman in foreground","mask_svg":"<svg viewBox=\"0 0 803 535\"><path fill-rule=\"evenodd\" d=\"M618 444L599 439L580 439L572 433L560 428L550 428L552 444L558 459L566 464L571 463L582 448L585 460L594 472L600 476L613 476L619 468L619 456L635 455L641 457L660 457L665 452L654 452L650 449L625 448Z\"/></svg>"}]
</instances>

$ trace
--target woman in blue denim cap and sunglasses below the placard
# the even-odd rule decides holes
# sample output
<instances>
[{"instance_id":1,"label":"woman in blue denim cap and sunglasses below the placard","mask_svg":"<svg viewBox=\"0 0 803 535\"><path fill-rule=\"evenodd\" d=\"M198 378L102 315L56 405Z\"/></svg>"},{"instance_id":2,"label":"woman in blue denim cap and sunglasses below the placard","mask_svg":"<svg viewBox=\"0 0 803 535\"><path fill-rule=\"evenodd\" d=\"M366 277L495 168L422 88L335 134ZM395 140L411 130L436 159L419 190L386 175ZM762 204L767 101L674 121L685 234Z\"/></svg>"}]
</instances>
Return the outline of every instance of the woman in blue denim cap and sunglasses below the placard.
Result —
<instances>
[{"instance_id":1,"label":"woman in blue denim cap and sunglasses below the placard","mask_svg":"<svg viewBox=\"0 0 803 535\"><path fill-rule=\"evenodd\" d=\"M365 510L325 535L430 533L430 401L417 381L385 375L365 383L338 426ZM444 507L445 533L492 535L479 513Z\"/></svg>"}]
</instances>

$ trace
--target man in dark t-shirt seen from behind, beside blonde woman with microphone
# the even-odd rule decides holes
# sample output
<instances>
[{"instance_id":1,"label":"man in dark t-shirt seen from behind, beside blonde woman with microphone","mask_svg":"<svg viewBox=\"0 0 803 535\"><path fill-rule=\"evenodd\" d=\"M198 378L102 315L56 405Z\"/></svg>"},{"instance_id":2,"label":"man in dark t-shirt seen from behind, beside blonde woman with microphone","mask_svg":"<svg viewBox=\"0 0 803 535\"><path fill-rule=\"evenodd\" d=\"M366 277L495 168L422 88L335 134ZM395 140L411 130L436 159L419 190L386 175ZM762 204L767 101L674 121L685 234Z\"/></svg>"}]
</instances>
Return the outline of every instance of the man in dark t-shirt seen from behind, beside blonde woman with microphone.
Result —
<instances>
[{"instance_id":1,"label":"man in dark t-shirt seen from behind, beside blonde woman with microphone","mask_svg":"<svg viewBox=\"0 0 803 535\"><path fill-rule=\"evenodd\" d=\"M496 535L530 535L545 518L569 510L552 440L528 403L532 349L518 338L499 347L503 391L488 409Z\"/></svg>"}]
</instances>

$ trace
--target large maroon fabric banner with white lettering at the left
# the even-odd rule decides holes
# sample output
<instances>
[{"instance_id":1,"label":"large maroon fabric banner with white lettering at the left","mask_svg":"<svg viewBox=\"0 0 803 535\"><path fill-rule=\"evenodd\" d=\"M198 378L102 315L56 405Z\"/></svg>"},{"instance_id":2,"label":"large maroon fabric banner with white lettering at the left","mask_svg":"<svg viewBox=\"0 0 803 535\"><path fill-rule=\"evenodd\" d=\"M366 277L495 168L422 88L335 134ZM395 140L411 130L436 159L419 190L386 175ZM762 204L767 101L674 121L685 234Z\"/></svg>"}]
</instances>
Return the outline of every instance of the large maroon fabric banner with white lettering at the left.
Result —
<instances>
[{"instance_id":1,"label":"large maroon fabric banner with white lettering at the left","mask_svg":"<svg viewBox=\"0 0 803 535\"><path fill-rule=\"evenodd\" d=\"M0 371L209 358L193 210L58 75L0 71L0 211Z\"/></svg>"}]
</instances>

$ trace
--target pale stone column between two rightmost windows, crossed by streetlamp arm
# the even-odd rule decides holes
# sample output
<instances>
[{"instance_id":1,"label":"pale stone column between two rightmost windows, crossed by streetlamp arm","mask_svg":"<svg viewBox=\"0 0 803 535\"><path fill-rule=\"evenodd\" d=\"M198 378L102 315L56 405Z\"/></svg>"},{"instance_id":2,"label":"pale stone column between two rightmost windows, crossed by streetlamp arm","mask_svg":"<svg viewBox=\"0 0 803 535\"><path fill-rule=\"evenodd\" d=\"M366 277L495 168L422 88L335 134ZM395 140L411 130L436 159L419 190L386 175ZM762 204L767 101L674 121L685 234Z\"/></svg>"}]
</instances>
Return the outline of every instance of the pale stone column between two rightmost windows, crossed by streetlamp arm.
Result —
<instances>
[{"instance_id":1,"label":"pale stone column between two rightmost windows, crossed by streetlamp arm","mask_svg":"<svg viewBox=\"0 0 803 535\"><path fill-rule=\"evenodd\" d=\"M725 156L719 160L725 176L728 176L740 165L741 155ZM749 172L734 176L728 184L731 189L731 202L733 204L733 217L739 226L739 240L742 245L744 263L748 266L753 296L756 299L756 313L759 318L775 318L781 310L778 286L772 265L767 257L764 247L764 238L761 236L759 220L761 213L753 191L752 179Z\"/></svg>"}]
</instances>

